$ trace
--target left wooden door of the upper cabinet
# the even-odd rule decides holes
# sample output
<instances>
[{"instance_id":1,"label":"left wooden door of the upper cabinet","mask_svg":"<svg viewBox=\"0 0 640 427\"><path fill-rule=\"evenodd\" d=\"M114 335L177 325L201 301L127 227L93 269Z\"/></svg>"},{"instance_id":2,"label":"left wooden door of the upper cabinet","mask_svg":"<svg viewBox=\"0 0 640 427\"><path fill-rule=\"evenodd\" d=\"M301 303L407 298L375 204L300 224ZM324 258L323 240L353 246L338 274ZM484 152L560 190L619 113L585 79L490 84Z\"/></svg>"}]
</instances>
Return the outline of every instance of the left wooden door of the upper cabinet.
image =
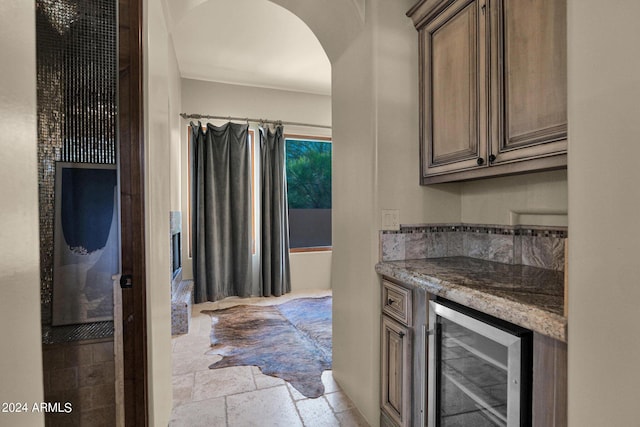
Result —
<instances>
[{"instance_id":1,"label":"left wooden door of the upper cabinet","mask_svg":"<svg viewBox=\"0 0 640 427\"><path fill-rule=\"evenodd\" d=\"M423 177L487 165L485 27L479 1L456 0L420 29Z\"/></svg>"}]
</instances>

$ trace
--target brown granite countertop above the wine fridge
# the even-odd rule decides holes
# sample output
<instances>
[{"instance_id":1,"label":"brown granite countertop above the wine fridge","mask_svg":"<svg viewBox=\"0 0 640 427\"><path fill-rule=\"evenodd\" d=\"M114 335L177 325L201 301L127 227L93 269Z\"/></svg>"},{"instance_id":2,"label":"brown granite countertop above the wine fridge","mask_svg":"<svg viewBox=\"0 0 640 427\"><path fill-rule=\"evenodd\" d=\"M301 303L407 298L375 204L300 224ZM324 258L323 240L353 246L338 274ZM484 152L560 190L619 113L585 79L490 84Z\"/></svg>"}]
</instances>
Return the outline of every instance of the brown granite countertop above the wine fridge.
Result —
<instances>
[{"instance_id":1,"label":"brown granite countertop above the wine fridge","mask_svg":"<svg viewBox=\"0 0 640 427\"><path fill-rule=\"evenodd\" d=\"M567 341L564 273L467 257L385 261L376 272L410 286Z\"/></svg>"}]
</instances>

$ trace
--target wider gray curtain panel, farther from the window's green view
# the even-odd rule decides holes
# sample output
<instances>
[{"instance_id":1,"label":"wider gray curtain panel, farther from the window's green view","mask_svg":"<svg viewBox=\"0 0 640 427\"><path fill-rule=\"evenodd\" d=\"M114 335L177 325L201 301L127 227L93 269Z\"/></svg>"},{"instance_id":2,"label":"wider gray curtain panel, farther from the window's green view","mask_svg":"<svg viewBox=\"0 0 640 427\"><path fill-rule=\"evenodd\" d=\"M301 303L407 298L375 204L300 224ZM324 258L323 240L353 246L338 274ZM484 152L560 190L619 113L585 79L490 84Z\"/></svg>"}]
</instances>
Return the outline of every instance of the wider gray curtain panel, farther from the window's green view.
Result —
<instances>
[{"instance_id":1,"label":"wider gray curtain panel, farther from the window's green view","mask_svg":"<svg viewBox=\"0 0 640 427\"><path fill-rule=\"evenodd\" d=\"M250 296L249 126L191 123L191 224L195 301Z\"/></svg>"}]
</instances>

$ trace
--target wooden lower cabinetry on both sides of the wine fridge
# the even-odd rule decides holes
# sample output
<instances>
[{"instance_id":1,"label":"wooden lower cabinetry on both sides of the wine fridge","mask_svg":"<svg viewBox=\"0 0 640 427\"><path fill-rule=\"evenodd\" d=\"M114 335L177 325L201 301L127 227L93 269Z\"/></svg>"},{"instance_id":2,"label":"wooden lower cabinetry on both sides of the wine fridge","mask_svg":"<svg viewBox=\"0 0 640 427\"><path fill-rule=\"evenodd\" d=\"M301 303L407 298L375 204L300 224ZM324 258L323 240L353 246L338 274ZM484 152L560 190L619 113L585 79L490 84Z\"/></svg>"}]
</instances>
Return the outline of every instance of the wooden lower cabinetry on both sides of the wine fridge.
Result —
<instances>
[{"instance_id":1,"label":"wooden lower cabinetry on both sides of the wine fridge","mask_svg":"<svg viewBox=\"0 0 640 427\"><path fill-rule=\"evenodd\" d=\"M382 280L382 427L427 426L427 331L431 294ZM533 335L532 427L567 425L567 344Z\"/></svg>"}]
</instances>

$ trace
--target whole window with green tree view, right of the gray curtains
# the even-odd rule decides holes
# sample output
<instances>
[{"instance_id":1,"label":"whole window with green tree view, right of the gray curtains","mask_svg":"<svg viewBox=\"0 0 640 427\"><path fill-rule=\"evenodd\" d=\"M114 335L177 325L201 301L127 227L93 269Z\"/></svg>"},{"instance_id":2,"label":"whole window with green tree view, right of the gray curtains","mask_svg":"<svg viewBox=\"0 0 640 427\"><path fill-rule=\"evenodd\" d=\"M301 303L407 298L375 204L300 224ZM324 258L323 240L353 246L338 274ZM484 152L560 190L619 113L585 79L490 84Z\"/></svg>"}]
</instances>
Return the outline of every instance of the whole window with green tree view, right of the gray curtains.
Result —
<instances>
[{"instance_id":1,"label":"whole window with green tree view, right of the gray curtains","mask_svg":"<svg viewBox=\"0 0 640 427\"><path fill-rule=\"evenodd\" d=\"M331 249L331 139L285 135L291 252Z\"/></svg>"}]
</instances>

